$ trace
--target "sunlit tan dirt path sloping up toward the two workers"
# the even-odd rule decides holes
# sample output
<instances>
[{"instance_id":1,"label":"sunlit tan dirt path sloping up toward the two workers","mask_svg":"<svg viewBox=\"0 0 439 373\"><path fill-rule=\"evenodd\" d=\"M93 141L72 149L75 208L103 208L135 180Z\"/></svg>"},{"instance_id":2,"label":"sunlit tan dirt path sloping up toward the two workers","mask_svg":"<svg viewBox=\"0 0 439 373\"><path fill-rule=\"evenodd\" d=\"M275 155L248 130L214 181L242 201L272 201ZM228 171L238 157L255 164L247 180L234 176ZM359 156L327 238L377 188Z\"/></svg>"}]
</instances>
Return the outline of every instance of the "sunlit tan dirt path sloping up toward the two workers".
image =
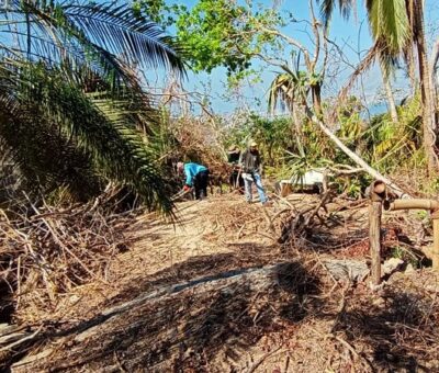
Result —
<instances>
[{"instance_id":1,"label":"sunlit tan dirt path sloping up toward the two workers","mask_svg":"<svg viewBox=\"0 0 439 373\"><path fill-rule=\"evenodd\" d=\"M251 229L250 225L248 229L244 226L244 223L248 221L256 224L263 223L264 216L261 208L259 204L248 206L239 196L213 197L202 202L179 204L177 224L167 224L151 215L139 217L137 223L131 227L130 236L133 247L120 255L113 262L106 276L108 282L91 283L77 289L65 302L59 303L57 309L47 313L47 321L65 325L65 331L60 332L55 340L57 343L71 344L74 338L75 343L80 341L80 346L83 344L87 349L87 339L90 336L93 339L95 329L100 329L99 334L105 335L108 332L105 330L113 330L114 320L108 319L113 318L114 309L119 309L116 314L117 316L122 315L122 319L127 317L132 308L137 315L134 316L135 318L142 317L145 315L142 310L143 307L151 306L153 298L156 303L168 304L170 302L175 304L176 299L188 297L188 294L194 292L195 289L203 294L200 299L201 306L210 297L216 296L217 290L214 287L217 287L224 278L223 282L225 283L219 285L219 289L228 287L234 283L234 286L238 284L237 287L245 285L245 290L238 291L239 297L245 297L240 293L241 291L249 292L248 294L254 292L248 291L246 280L244 282L241 280L243 276L256 279L250 283L255 284L261 281L263 286L270 286L271 280L268 279L270 270L262 269L264 275L261 276L258 269L273 262L275 255L279 253L278 249L272 239L254 231L255 226ZM246 218L240 222L239 218L237 219L236 224L241 224L240 239L236 238L236 230L227 231L223 226L228 223L227 219L234 219L233 216L227 215L230 210L238 214L245 211L246 215L252 216L250 219ZM266 228L261 227L260 230L264 231ZM199 283L202 283L203 286L196 286ZM211 285L211 283L213 284ZM204 286L204 284L206 285ZM259 291L262 291L263 286L259 286ZM165 295L169 295L171 287L176 296L166 298ZM200 290L201 287L203 289ZM204 293L206 294L204 295ZM173 307L169 304L168 306ZM228 306L236 308L233 303ZM239 302L237 306L239 309ZM164 306L158 305L157 313L164 312L160 310L160 307ZM172 309L169 310L169 315L171 314ZM121 318L117 317L117 320L120 321ZM128 328L128 326L125 327ZM156 335L155 338L159 338L159 336ZM63 357L59 361L64 361L65 353L66 351L63 350L43 349L38 355L43 357L41 361L30 357L15 364L14 371L35 371L41 366L46 366L45 364L54 365L54 361L58 360L57 357ZM79 354L82 353L83 351L79 352ZM105 364L105 359L99 353L98 355L95 360L102 360L101 363ZM112 355L111 359L113 359ZM29 363L30 361L33 363ZM169 366L170 362L169 359L165 359L160 363ZM59 364L65 365L64 362L59 362ZM87 361L78 363L78 366L82 364L89 366ZM99 364L93 369L98 369L95 366ZM136 365L134 364L134 366ZM74 366L70 368L74 369Z\"/></svg>"}]
</instances>

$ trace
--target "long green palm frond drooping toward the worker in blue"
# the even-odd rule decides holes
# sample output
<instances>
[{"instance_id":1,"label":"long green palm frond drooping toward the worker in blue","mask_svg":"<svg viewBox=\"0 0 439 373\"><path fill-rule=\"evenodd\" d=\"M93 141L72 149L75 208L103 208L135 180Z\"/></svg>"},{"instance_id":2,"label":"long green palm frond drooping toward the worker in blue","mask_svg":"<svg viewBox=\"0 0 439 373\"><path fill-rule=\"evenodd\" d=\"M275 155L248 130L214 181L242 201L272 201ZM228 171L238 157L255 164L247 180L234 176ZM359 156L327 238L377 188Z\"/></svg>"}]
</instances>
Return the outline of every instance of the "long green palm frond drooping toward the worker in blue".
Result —
<instances>
[{"instance_id":1,"label":"long green palm frond drooping toward the worker in blue","mask_svg":"<svg viewBox=\"0 0 439 373\"><path fill-rule=\"evenodd\" d=\"M7 75L8 70L3 71ZM101 111L78 87L66 81L61 74L48 70L43 65L30 65L27 68L22 66L21 69L13 67L10 75L9 79L4 76L0 80L0 98L5 110L0 112L0 136L9 139L13 146L13 135L20 129L22 135L15 136L18 142L25 138L22 144L35 144L35 151L27 151L31 156L24 158L22 163L41 161L37 177L48 179L38 180L38 183L46 184L50 180L65 180L68 183L66 176L76 174L75 170L66 170L54 179L54 170L45 168L46 162L38 154L43 147L43 155L47 150L47 156L59 157L59 162L54 163L63 170L66 166L63 160L71 158L70 154L66 154L66 145L69 145L71 149L78 149L78 154L89 157L100 174L131 187L148 207L171 213L171 193L167 191L160 170L154 165L154 155L132 124L131 113L122 112L112 116L111 110L106 113ZM114 108L113 111L117 112ZM30 127L35 131L29 131ZM43 136L50 132L52 136ZM32 136L41 140L33 140ZM44 138L50 140L45 147L42 145ZM59 148L60 155L52 151L55 147ZM21 152L22 148L18 150Z\"/></svg>"}]
</instances>

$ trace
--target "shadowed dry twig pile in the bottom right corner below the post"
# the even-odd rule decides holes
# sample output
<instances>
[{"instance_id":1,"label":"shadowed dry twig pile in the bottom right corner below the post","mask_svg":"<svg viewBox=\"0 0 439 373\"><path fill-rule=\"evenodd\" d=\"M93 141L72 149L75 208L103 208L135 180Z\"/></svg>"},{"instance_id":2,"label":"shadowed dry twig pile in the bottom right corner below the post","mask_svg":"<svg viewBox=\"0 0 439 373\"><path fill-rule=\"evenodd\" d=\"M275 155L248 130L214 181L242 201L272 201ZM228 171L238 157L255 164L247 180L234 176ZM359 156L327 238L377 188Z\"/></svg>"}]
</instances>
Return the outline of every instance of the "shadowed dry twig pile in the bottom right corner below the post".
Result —
<instances>
[{"instance_id":1,"label":"shadowed dry twig pile in the bottom right corner below the post","mask_svg":"<svg viewBox=\"0 0 439 373\"><path fill-rule=\"evenodd\" d=\"M373 371L437 371L437 281L426 271L401 274L380 294L352 287L344 295L331 331L357 355L368 357Z\"/></svg>"}]
</instances>

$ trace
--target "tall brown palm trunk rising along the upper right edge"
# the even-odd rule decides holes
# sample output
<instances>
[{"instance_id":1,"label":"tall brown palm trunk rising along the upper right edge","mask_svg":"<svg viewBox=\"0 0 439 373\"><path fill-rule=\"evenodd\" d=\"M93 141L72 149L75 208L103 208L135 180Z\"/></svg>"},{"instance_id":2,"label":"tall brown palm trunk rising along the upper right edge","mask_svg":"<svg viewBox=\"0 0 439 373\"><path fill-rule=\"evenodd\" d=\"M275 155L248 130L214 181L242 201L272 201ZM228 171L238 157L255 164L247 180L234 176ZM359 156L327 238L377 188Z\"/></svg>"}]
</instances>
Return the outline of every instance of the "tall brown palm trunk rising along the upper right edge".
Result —
<instances>
[{"instance_id":1,"label":"tall brown palm trunk rising along the upper right edge","mask_svg":"<svg viewBox=\"0 0 439 373\"><path fill-rule=\"evenodd\" d=\"M436 105L431 83L431 74L427 59L426 39L424 33L424 8L423 0L416 0L415 4L415 30L416 47L419 61L420 94L423 100L423 131L424 151L427 160L428 173L438 170L438 158L436 156Z\"/></svg>"}]
</instances>

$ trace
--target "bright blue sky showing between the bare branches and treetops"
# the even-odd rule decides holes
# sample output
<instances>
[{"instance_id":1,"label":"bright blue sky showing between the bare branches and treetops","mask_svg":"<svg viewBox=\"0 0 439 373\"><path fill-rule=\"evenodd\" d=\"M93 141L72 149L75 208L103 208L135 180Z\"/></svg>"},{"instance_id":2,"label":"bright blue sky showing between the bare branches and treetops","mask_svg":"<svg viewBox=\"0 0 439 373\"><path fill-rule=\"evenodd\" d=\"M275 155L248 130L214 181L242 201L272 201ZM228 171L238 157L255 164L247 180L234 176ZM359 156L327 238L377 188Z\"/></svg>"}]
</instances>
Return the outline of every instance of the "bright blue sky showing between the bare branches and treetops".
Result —
<instances>
[{"instance_id":1,"label":"bright blue sky showing between the bare branches and treetops","mask_svg":"<svg viewBox=\"0 0 439 373\"><path fill-rule=\"evenodd\" d=\"M180 0L178 2L189 8L195 3L193 0ZM272 7L272 1L262 0L259 2L266 7ZM432 44L434 39L439 36L439 32L436 30L436 24L439 20L439 1L426 0L425 7L427 36L429 43ZM285 0L281 2L281 8L292 12L297 20L308 19L307 0ZM303 23L299 25L293 24L282 31L309 47L311 42L304 33L303 27ZM172 30L168 32L172 33ZM351 16L349 20L342 19L338 12L334 14L329 38L342 47L345 58L351 66L358 65L368 48L372 45L363 1L358 1L357 15ZM254 61L252 66L258 68L262 65L258 61ZM324 95L330 97L337 94L338 90L348 80L352 71L353 68L348 68L346 65L346 69L339 71L337 76L333 77L329 83L324 87ZM209 92L212 109L218 114L230 114L244 108L256 112L262 112L267 111L267 90L274 76L275 69L268 68L261 75L262 81L254 84L243 84L243 87L235 90L235 92L230 92L226 88L227 79L224 68L216 68L209 75L189 71L188 79L183 82L183 87L188 91ZM396 92L396 99L403 99L408 88L408 79L405 77L404 72L397 71L392 83ZM382 104L384 102L382 77L376 67L361 77L357 87L353 89L353 93L358 92L362 92L363 101L368 106L381 106L385 109L385 105L383 106Z\"/></svg>"}]
</instances>

